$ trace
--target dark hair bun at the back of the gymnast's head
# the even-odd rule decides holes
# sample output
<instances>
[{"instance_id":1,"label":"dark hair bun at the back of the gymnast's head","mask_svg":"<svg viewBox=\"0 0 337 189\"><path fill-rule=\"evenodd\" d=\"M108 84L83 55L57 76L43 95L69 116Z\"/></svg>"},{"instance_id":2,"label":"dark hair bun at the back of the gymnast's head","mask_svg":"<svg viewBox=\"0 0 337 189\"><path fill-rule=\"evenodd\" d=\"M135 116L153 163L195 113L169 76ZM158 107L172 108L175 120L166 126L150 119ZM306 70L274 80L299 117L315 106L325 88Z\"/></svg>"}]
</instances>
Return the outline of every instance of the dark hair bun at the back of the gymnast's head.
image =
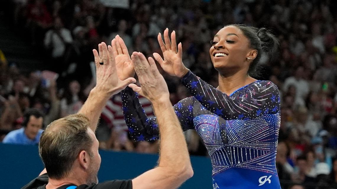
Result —
<instances>
[{"instance_id":1,"label":"dark hair bun at the back of the gymnast's head","mask_svg":"<svg viewBox=\"0 0 337 189\"><path fill-rule=\"evenodd\" d=\"M261 41L262 50L269 53L274 53L279 47L279 41L271 30L260 28L257 31L257 37Z\"/></svg>"}]
</instances>

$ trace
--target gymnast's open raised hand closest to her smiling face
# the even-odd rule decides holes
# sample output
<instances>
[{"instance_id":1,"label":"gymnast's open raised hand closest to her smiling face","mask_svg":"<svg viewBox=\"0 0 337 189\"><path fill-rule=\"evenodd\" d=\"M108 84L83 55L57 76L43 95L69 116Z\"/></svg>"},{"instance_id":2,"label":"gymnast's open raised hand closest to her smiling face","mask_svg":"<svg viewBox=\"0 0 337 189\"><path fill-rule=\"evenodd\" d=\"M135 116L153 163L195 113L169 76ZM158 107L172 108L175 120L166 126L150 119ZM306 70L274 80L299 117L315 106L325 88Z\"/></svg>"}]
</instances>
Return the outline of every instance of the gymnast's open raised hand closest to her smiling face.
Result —
<instances>
[{"instance_id":1,"label":"gymnast's open raised hand closest to her smiling face","mask_svg":"<svg viewBox=\"0 0 337 189\"><path fill-rule=\"evenodd\" d=\"M164 60L158 53L153 53L153 57L158 61L161 68L168 74L172 76L177 76L179 78L183 77L189 70L184 66L182 62L183 49L181 43L178 44L177 51L177 42L176 42L176 32L171 33L171 40L168 37L168 29L164 31L164 41L161 38L160 33L158 34L158 42L163 52Z\"/></svg>"}]
</instances>

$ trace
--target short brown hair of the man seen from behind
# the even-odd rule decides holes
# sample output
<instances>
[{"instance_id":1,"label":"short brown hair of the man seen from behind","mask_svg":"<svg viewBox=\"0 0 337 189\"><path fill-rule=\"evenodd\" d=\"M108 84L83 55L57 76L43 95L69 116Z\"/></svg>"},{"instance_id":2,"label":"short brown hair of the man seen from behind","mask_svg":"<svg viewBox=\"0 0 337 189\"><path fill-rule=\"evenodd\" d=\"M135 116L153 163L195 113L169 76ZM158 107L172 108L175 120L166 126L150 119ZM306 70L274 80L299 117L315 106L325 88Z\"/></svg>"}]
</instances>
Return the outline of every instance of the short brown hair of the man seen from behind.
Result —
<instances>
[{"instance_id":1,"label":"short brown hair of the man seen from behind","mask_svg":"<svg viewBox=\"0 0 337 189\"><path fill-rule=\"evenodd\" d=\"M73 114L50 123L43 131L39 154L51 179L60 180L69 171L83 150L92 157L92 139L88 134L89 119L83 114Z\"/></svg>"}]
</instances>

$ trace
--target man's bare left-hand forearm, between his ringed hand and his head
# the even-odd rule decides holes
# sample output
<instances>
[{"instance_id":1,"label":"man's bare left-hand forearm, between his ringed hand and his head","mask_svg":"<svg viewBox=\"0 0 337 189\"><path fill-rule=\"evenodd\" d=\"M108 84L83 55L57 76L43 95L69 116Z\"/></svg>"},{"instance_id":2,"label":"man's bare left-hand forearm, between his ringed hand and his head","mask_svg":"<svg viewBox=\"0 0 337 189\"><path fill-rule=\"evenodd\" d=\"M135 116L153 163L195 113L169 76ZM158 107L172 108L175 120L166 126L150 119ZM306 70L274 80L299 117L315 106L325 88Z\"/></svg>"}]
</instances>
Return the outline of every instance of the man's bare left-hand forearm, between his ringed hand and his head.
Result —
<instances>
[{"instance_id":1,"label":"man's bare left-hand forearm, between his ringed hand and his head","mask_svg":"<svg viewBox=\"0 0 337 189\"><path fill-rule=\"evenodd\" d=\"M88 99L78 113L86 115L90 120L90 128L95 131L101 112L108 102L109 96L93 88Z\"/></svg>"}]
</instances>

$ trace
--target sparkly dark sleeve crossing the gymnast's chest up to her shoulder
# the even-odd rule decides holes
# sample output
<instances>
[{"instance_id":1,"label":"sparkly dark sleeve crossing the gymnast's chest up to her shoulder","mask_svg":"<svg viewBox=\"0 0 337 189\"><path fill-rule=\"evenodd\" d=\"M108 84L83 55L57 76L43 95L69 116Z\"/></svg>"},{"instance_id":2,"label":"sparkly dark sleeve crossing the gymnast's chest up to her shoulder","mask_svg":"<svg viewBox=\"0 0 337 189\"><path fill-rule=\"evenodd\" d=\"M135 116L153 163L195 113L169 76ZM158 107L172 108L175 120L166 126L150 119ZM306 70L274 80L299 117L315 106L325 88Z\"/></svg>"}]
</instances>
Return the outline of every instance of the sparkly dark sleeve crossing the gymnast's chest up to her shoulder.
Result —
<instances>
[{"instance_id":1,"label":"sparkly dark sleeve crossing the gymnast's chest up to her shoulder","mask_svg":"<svg viewBox=\"0 0 337 189\"><path fill-rule=\"evenodd\" d=\"M278 88L271 81L253 82L233 96L217 90L192 72L181 78L181 82L207 110L225 120L251 119L280 109Z\"/></svg>"}]
</instances>

